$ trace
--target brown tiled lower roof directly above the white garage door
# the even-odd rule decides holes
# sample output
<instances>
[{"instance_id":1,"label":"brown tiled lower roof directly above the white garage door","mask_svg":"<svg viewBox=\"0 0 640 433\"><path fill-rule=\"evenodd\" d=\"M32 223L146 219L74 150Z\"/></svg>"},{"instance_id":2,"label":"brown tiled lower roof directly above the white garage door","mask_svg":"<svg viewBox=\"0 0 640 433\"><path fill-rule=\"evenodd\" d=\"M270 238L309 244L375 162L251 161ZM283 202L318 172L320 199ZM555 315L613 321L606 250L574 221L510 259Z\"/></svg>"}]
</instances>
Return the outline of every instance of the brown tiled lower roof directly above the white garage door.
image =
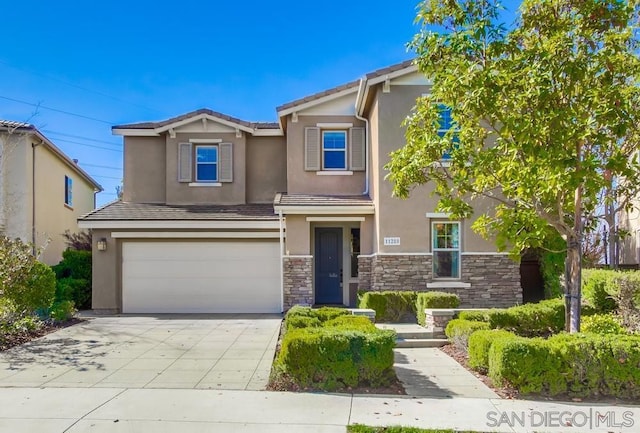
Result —
<instances>
[{"instance_id":1,"label":"brown tiled lower roof directly above the white garage door","mask_svg":"<svg viewBox=\"0 0 640 433\"><path fill-rule=\"evenodd\" d=\"M277 220L271 204L168 205L116 201L80 218L83 221Z\"/></svg>"}]
</instances>

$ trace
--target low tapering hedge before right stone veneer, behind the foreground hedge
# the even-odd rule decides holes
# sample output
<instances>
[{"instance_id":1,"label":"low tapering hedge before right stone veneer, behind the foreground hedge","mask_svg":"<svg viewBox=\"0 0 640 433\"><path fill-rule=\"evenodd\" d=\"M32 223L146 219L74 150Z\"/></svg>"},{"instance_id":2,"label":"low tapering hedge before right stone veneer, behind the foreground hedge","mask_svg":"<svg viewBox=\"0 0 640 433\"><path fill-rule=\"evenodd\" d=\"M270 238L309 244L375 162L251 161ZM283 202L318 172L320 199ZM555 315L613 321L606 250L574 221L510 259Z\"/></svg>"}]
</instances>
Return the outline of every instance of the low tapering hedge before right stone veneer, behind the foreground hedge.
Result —
<instances>
[{"instance_id":1,"label":"low tapering hedge before right stone veneer, behind the foreground hedge","mask_svg":"<svg viewBox=\"0 0 640 433\"><path fill-rule=\"evenodd\" d=\"M491 329L506 329L523 337L538 337L563 331L564 313L562 299L548 299L506 309L462 311L459 318L487 322ZM582 314L593 314L593 309L583 306Z\"/></svg>"}]
</instances>

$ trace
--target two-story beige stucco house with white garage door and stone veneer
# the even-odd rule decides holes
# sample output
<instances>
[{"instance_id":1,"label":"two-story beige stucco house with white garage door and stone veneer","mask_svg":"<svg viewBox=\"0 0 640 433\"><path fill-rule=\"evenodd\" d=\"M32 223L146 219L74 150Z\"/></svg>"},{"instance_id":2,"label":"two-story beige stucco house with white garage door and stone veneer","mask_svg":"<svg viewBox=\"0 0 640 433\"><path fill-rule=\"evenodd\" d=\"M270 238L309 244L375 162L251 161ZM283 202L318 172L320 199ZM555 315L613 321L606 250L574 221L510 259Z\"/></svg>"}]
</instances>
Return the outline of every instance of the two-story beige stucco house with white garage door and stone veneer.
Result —
<instances>
[{"instance_id":1,"label":"two-story beige stucco house with white garage door and stone veneer","mask_svg":"<svg viewBox=\"0 0 640 433\"><path fill-rule=\"evenodd\" d=\"M282 105L277 123L203 109L115 126L123 200L80 220L106 248L94 246L93 308L280 312L352 305L358 289L521 303L518 265L472 221L436 213L429 185L391 195L383 167L428 91L405 62Z\"/></svg>"}]
</instances>

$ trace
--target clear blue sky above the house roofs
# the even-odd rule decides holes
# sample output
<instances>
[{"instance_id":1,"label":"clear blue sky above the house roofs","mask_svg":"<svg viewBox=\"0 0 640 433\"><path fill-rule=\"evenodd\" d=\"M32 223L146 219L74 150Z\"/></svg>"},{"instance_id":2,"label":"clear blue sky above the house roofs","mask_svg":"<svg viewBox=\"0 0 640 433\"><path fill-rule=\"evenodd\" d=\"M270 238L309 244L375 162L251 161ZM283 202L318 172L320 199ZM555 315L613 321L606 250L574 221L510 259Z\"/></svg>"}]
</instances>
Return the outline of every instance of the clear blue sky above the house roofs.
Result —
<instances>
[{"instance_id":1,"label":"clear blue sky above the house roofs","mask_svg":"<svg viewBox=\"0 0 640 433\"><path fill-rule=\"evenodd\" d=\"M122 178L111 125L203 107L275 121L277 105L411 58L417 3L23 1L3 8L0 118L79 159L101 205Z\"/></svg>"}]
</instances>

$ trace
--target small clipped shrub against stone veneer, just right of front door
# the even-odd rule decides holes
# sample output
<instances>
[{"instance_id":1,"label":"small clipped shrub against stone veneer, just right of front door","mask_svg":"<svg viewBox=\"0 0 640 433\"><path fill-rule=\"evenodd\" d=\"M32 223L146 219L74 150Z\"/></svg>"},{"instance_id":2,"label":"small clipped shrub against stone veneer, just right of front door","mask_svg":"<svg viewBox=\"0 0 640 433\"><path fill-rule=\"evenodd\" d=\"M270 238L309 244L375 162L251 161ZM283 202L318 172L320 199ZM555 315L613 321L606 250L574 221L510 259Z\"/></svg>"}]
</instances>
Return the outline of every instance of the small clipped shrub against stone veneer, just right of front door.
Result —
<instances>
[{"instance_id":1,"label":"small clipped shrub against stone veneer, just right of front door","mask_svg":"<svg viewBox=\"0 0 640 433\"><path fill-rule=\"evenodd\" d=\"M364 292L360 296L358 308L375 310L376 322L413 321L416 314L416 292Z\"/></svg>"}]
</instances>

